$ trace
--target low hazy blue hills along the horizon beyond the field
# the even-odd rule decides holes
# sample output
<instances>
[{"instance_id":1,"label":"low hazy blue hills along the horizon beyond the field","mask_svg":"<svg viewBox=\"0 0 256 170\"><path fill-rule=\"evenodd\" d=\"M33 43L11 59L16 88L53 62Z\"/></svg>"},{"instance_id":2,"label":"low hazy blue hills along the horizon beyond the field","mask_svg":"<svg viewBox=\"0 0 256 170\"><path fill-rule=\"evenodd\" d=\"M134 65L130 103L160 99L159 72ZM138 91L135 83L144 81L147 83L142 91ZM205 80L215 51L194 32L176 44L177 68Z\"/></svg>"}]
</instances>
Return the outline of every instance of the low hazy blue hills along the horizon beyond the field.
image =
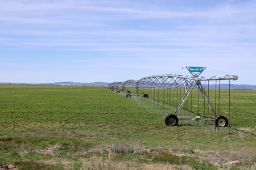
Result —
<instances>
[{"instance_id":1,"label":"low hazy blue hills along the horizon beyond the field","mask_svg":"<svg viewBox=\"0 0 256 170\"><path fill-rule=\"evenodd\" d=\"M113 82L112 82L113 83ZM56 83L1 83L0 84L35 84L35 85L62 85L62 86L107 86L109 83L106 82L94 82L94 83L76 83L76 82L56 82ZM202 84L204 87L204 84ZM181 84L182 86L182 84ZM215 88L215 84L209 84L209 88ZM205 85L208 87L208 84ZM218 88L218 85L217 85ZM220 84L220 88L229 88L229 84ZM255 89L256 85L249 84L230 84L230 88L233 89Z\"/></svg>"}]
</instances>

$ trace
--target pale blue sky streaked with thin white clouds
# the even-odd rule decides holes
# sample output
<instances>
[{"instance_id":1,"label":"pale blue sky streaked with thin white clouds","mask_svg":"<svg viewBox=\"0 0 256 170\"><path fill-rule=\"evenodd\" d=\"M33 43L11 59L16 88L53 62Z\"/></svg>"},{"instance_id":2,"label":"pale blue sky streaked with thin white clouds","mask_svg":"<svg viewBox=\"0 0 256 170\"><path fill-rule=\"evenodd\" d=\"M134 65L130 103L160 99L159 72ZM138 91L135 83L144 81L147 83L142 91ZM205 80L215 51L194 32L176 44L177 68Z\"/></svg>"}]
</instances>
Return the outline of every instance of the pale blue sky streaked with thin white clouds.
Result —
<instances>
[{"instance_id":1,"label":"pale blue sky streaked with thin white clouds","mask_svg":"<svg viewBox=\"0 0 256 170\"><path fill-rule=\"evenodd\" d=\"M123 82L205 66L206 78L255 85L255 9L246 0L0 0L0 82Z\"/></svg>"}]
</instances>

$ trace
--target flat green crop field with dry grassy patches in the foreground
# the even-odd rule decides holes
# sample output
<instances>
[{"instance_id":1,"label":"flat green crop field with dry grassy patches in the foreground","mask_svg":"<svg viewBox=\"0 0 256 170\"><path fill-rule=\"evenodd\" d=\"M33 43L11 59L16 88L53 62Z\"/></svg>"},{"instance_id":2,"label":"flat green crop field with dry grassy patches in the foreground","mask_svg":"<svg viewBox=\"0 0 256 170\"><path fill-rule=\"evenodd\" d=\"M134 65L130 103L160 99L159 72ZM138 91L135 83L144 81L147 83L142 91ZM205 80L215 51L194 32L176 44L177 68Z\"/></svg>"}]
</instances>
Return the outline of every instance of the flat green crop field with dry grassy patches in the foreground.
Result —
<instances>
[{"instance_id":1,"label":"flat green crop field with dry grassy patches in the foreground","mask_svg":"<svg viewBox=\"0 0 256 170\"><path fill-rule=\"evenodd\" d=\"M182 120L171 127L168 113L108 88L3 84L0 166L256 169L255 101L255 90L231 90L229 127Z\"/></svg>"}]
</instances>

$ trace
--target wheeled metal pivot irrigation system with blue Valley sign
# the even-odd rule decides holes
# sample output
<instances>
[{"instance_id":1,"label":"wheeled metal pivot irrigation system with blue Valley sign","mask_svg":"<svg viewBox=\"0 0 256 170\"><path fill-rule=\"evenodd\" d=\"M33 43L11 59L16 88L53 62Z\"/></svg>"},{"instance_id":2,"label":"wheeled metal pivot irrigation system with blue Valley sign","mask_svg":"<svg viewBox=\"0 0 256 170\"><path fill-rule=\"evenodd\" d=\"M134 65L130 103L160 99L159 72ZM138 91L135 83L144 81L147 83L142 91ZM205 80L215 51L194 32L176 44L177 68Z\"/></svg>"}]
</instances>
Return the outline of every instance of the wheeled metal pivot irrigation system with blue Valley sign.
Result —
<instances>
[{"instance_id":1,"label":"wheeled metal pivot irrigation system with blue Valley sign","mask_svg":"<svg viewBox=\"0 0 256 170\"><path fill-rule=\"evenodd\" d=\"M199 120L204 120L207 124L214 121L216 127L228 126L230 80L237 80L238 76L204 78L200 75L206 67L186 68L192 76L154 75L139 80L110 83L108 88L117 93L125 93L126 97L135 96L138 101L149 105L150 108L162 109L163 113L168 112L165 118L168 126L176 126L179 120L196 120L197 124ZM229 83L221 84L224 80L228 80ZM223 116L224 113L228 114L228 118Z\"/></svg>"}]
</instances>

